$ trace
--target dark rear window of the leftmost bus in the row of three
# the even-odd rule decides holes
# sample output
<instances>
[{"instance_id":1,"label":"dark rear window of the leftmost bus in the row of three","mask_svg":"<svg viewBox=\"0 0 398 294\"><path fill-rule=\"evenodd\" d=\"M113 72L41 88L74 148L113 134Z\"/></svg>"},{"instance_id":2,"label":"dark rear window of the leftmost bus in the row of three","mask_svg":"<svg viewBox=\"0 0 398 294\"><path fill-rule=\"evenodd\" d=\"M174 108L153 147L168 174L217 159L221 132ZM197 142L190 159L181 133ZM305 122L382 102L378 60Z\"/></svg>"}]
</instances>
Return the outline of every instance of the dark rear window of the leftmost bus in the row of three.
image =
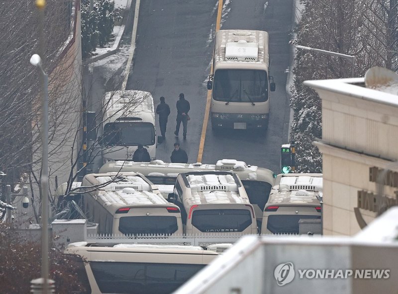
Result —
<instances>
[{"instance_id":1,"label":"dark rear window of the leftmost bus in the row of three","mask_svg":"<svg viewBox=\"0 0 398 294\"><path fill-rule=\"evenodd\" d=\"M119 220L119 231L126 235L172 234L177 229L177 218L173 216L122 217Z\"/></svg>"}]
</instances>

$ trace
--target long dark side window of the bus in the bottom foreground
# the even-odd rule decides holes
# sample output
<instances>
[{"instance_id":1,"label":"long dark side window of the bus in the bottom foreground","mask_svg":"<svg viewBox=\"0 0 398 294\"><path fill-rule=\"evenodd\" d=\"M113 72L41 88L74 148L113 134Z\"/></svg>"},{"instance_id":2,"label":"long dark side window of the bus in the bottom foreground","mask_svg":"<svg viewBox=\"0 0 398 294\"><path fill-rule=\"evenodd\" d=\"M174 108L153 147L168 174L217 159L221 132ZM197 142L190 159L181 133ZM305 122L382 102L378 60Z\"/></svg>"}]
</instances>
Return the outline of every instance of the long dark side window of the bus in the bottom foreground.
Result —
<instances>
[{"instance_id":1,"label":"long dark side window of the bus in the bottom foreground","mask_svg":"<svg viewBox=\"0 0 398 294\"><path fill-rule=\"evenodd\" d=\"M92 261L90 266L102 293L169 294L205 265Z\"/></svg>"}]
</instances>

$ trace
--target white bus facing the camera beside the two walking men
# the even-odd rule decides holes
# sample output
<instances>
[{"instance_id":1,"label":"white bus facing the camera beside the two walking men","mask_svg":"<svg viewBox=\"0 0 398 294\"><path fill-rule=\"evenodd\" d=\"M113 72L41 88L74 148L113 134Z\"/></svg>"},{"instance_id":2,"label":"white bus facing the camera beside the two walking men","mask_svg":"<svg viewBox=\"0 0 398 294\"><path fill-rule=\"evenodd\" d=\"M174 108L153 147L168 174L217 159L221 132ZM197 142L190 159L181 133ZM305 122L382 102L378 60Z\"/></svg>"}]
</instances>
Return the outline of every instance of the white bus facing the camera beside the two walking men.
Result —
<instances>
[{"instance_id":1,"label":"white bus facing the camera beside the two walking men","mask_svg":"<svg viewBox=\"0 0 398 294\"><path fill-rule=\"evenodd\" d=\"M107 92L103 101L102 160L131 160L139 144L156 156L155 109L151 93Z\"/></svg>"}]
</instances>

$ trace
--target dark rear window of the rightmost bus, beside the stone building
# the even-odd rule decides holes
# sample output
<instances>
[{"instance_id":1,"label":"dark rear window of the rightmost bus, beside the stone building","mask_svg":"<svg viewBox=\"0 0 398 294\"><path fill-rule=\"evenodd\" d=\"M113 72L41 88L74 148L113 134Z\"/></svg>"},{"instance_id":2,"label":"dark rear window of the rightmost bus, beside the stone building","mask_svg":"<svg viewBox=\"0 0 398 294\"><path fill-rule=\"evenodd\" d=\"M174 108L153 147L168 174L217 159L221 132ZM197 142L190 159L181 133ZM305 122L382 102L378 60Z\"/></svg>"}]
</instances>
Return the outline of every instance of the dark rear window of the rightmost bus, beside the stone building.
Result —
<instances>
[{"instance_id":1,"label":"dark rear window of the rightmost bus, beside the stone building","mask_svg":"<svg viewBox=\"0 0 398 294\"><path fill-rule=\"evenodd\" d=\"M273 234L298 234L298 221L301 219L320 219L320 216L271 215L268 217L267 229Z\"/></svg>"}]
</instances>

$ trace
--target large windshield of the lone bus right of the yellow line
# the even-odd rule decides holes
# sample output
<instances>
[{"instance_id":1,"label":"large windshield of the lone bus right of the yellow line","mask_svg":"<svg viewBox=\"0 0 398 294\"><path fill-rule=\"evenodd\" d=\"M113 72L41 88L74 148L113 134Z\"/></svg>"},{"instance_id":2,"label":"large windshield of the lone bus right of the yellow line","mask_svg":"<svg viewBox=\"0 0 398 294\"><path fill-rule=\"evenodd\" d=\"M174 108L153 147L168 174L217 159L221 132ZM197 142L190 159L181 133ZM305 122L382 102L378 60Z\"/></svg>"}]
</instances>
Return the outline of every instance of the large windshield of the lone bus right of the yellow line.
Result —
<instances>
[{"instance_id":1,"label":"large windshield of the lone bus right of the yellow line","mask_svg":"<svg viewBox=\"0 0 398 294\"><path fill-rule=\"evenodd\" d=\"M213 99L225 102L265 102L268 100L267 72L217 70L214 73Z\"/></svg>"}]
</instances>

